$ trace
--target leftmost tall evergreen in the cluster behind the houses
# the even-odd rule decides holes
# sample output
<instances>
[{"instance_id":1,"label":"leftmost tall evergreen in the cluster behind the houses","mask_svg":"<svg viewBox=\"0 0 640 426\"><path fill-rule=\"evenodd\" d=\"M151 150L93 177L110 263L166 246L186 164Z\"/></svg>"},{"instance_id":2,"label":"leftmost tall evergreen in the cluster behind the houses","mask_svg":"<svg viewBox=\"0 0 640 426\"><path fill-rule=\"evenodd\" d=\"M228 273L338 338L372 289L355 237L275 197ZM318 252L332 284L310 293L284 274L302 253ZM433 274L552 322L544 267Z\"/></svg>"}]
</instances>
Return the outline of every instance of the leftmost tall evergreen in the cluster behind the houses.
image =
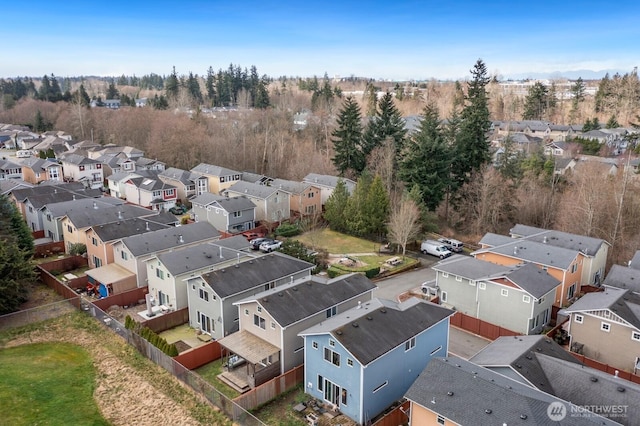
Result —
<instances>
[{"instance_id":1,"label":"leftmost tall evergreen in the cluster behind the houses","mask_svg":"<svg viewBox=\"0 0 640 426\"><path fill-rule=\"evenodd\" d=\"M364 169L361 121L360 107L352 97L347 97L336 119L338 126L331 133L335 151L332 161L341 176L357 176Z\"/></svg>"}]
</instances>

